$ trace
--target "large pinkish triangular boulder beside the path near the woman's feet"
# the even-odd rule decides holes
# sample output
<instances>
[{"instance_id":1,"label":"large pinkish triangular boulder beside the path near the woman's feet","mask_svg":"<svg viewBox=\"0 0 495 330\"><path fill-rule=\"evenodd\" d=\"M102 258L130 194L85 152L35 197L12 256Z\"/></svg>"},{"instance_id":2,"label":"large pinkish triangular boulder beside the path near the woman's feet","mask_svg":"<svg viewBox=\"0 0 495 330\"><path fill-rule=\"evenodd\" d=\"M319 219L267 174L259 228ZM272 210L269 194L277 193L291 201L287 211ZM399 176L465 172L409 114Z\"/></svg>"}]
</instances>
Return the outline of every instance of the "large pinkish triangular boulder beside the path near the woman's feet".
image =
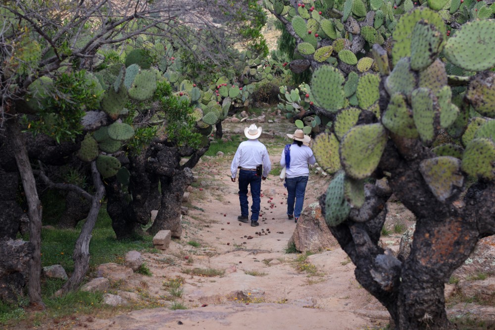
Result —
<instances>
[{"instance_id":1,"label":"large pinkish triangular boulder beside the path near the woman's feet","mask_svg":"<svg viewBox=\"0 0 495 330\"><path fill-rule=\"evenodd\" d=\"M318 202L309 204L302 211L294 234L289 239L289 245L292 243L301 252L317 252L337 244L321 215Z\"/></svg>"}]
</instances>

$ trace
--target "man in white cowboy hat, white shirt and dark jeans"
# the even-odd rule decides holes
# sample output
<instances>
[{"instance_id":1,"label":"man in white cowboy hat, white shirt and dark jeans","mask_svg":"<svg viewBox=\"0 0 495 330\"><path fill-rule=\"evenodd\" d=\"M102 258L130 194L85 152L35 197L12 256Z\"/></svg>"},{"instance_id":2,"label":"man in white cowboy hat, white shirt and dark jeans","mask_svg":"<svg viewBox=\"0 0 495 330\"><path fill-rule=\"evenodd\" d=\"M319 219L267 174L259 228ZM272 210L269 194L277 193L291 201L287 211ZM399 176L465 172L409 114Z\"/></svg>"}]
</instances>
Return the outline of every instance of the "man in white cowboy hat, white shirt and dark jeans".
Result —
<instances>
[{"instance_id":1,"label":"man in white cowboy hat, white shirt and dark jeans","mask_svg":"<svg viewBox=\"0 0 495 330\"><path fill-rule=\"evenodd\" d=\"M232 182L236 182L237 168L239 170L239 201L241 203L241 215L237 220L248 222L247 186L251 188L251 227L259 226L258 217L260 210L261 180L266 180L272 164L268 157L268 151L263 143L258 141L261 135L261 127L252 124L244 129L247 141L241 142L237 148L230 171ZM262 173L256 173L256 167L262 166ZM261 175L261 176L260 176Z\"/></svg>"}]
</instances>

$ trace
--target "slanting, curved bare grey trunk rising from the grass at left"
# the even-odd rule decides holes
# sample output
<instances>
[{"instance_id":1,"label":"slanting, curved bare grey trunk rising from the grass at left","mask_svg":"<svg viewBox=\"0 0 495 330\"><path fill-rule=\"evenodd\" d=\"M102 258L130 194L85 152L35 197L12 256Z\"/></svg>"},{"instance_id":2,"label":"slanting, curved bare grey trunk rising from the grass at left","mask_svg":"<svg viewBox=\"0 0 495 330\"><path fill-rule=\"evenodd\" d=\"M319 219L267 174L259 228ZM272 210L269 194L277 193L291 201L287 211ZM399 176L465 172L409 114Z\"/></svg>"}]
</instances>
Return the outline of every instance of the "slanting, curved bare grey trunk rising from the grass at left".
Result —
<instances>
[{"instance_id":1,"label":"slanting, curved bare grey trunk rising from the grass at left","mask_svg":"<svg viewBox=\"0 0 495 330\"><path fill-rule=\"evenodd\" d=\"M86 273L88 273L90 265L89 248L92 237L91 233L93 232L96 220L98 219L101 199L103 198L103 195L105 193L105 189L103 187L103 183L101 182L95 162L91 163L91 172L93 177L93 185L96 192L91 199L91 209L88 214L88 218L86 219L86 222L81 229L81 234L79 234L76 245L74 247L74 255L72 256L74 260L74 273L72 273L69 281L67 281L60 290L55 292L56 296L77 289L81 282L84 280Z\"/></svg>"}]
</instances>

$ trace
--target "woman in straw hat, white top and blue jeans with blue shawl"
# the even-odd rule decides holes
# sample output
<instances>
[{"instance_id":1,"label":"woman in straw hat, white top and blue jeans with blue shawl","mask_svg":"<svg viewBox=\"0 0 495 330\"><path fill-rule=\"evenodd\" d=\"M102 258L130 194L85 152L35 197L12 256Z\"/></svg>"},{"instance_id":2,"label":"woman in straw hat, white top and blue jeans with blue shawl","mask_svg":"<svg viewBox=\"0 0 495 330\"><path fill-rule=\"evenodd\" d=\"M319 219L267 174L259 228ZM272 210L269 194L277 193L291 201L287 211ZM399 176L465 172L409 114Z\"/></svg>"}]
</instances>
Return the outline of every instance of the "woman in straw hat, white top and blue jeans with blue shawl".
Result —
<instances>
[{"instance_id":1,"label":"woman in straw hat, white top and blue jeans with blue shawl","mask_svg":"<svg viewBox=\"0 0 495 330\"><path fill-rule=\"evenodd\" d=\"M304 203L304 193L309 178L309 164L316 163L313 151L303 142L311 141L311 138L304 135L302 130L296 130L294 134L287 134L294 140L292 144L287 144L282 151L280 165L286 168L285 185L287 187L287 216L290 220L295 219L296 223L302 212Z\"/></svg>"}]
</instances>

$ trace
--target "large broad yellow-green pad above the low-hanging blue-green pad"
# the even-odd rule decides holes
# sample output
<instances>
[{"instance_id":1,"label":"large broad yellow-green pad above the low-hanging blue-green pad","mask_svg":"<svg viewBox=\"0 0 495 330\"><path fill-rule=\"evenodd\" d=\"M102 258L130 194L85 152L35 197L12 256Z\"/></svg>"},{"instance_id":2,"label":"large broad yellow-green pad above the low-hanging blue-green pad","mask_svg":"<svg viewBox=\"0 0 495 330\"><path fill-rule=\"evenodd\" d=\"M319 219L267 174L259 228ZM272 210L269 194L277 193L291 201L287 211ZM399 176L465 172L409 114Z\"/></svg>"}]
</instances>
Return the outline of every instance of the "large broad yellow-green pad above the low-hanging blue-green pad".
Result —
<instances>
[{"instance_id":1,"label":"large broad yellow-green pad above the low-hanging blue-green pad","mask_svg":"<svg viewBox=\"0 0 495 330\"><path fill-rule=\"evenodd\" d=\"M354 179L369 177L378 166L387 143L382 124L358 125L351 128L340 145L341 163Z\"/></svg>"}]
</instances>

